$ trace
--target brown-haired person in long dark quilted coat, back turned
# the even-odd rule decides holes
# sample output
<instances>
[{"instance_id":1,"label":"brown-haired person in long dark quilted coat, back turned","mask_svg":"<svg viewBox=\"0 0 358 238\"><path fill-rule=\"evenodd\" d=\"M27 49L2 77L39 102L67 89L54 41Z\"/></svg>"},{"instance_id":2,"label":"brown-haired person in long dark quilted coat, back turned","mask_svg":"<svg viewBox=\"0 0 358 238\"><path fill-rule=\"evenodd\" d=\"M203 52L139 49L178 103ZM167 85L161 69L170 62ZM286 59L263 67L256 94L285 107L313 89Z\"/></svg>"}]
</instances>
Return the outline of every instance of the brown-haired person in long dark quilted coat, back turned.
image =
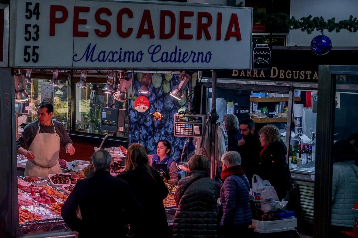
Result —
<instances>
[{"instance_id":1,"label":"brown-haired person in long dark quilted coat, back turned","mask_svg":"<svg viewBox=\"0 0 358 238\"><path fill-rule=\"evenodd\" d=\"M187 177L180 179L174 199L178 205L173 223L174 238L217 237L217 187L208 177L208 159L194 155Z\"/></svg>"}]
</instances>

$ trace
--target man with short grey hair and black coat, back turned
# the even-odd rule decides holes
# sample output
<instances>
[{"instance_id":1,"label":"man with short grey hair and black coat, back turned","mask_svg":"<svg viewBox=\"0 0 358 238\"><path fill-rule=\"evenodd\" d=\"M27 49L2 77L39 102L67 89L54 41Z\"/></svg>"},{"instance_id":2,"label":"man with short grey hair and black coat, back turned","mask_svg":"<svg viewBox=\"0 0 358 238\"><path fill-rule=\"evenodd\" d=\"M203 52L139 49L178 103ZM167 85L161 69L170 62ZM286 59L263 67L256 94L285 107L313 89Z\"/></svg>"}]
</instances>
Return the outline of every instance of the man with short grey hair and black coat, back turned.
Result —
<instances>
[{"instance_id":1,"label":"man with short grey hair and black coat, back turned","mask_svg":"<svg viewBox=\"0 0 358 238\"><path fill-rule=\"evenodd\" d=\"M62 206L63 221L78 237L126 237L130 224L134 234L139 231L142 208L129 185L110 174L111 155L98 150L92 155L95 174L79 180ZM81 209L82 219L76 210Z\"/></svg>"}]
</instances>

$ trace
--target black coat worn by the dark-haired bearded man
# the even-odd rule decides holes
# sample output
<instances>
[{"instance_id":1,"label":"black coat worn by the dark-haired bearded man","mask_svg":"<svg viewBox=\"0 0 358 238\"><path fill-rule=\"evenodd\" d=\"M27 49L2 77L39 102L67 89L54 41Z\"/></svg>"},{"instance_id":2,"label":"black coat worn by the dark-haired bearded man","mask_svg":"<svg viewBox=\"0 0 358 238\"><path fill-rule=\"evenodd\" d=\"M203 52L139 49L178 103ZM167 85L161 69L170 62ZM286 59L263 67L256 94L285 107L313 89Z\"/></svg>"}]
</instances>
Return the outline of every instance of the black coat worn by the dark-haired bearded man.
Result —
<instances>
[{"instance_id":1,"label":"black coat worn by the dark-haired bearded man","mask_svg":"<svg viewBox=\"0 0 358 238\"><path fill-rule=\"evenodd\" d=\"M261 150L262 146L256 131L251 137L246 137L244 145L238 147L238 152L241 156L241 167L250 183L250 188L252 188L252 176L256 173L260 163Z\"/></svg>"}]
</instances>

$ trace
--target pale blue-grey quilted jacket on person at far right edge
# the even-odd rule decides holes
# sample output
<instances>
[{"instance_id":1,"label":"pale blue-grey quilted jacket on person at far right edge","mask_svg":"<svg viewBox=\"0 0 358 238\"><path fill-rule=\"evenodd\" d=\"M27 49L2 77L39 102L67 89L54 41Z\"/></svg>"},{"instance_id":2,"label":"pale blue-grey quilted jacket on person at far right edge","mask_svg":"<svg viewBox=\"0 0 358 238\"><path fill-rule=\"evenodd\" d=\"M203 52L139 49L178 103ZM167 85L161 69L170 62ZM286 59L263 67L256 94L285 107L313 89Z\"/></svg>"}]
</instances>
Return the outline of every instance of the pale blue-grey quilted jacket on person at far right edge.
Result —
<instances>
[{"instance_id":1,"label":"pale blue-grey quilted jacket on person at far right edge","mask_svg":"<svg viewBox=\"0 0 358 238\"><path fill-rule=\"evenodd\" d=\"M354 217L358 211L352 209L358 200L358 179L350 167L358 174L354 161L333 164L332 179L332 225L353 227Z\"/></svg>"}]
</instances>

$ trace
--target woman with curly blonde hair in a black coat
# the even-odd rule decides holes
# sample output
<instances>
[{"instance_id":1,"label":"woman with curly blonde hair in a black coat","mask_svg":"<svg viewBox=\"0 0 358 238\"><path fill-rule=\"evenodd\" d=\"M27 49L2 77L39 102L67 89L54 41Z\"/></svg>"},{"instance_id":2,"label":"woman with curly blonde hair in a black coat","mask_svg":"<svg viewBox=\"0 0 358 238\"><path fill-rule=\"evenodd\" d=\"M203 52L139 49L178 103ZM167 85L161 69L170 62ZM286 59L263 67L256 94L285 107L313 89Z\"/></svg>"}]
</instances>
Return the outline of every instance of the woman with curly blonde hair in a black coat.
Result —
<instances>
[{"instance_id":1,"label":"woman with curly blonde hair in a black coat","mask_svg":"<svg viewBox=\"0 0 358 238\"><path fill-rule=\"evenodd\" d=\"M260 142L263 149L260 153L258 175L271 183L282 200L292 187L291 173L286 162L286 145L281 140L279 129L274 125L261 128Z\"/></svg>"}]
</instances>

